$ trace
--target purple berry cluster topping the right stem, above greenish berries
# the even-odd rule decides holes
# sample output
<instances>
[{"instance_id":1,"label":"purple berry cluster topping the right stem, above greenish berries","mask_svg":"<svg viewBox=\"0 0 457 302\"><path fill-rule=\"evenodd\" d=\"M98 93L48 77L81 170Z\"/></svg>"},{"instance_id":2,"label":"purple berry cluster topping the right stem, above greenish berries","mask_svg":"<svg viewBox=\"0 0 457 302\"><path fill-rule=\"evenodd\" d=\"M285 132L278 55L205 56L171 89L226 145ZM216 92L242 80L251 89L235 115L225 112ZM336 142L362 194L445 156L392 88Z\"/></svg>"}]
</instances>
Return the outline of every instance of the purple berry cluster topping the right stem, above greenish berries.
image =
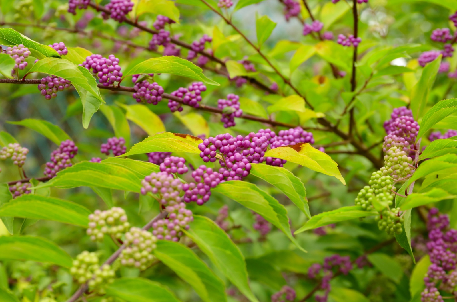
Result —
<instances>
[{"instance_id":1,"label":"purple berry cluster topping the right stem, above greenish berries","mask_svg":"<svg viewBox=\"0 0 457 302\"><path fill-rule=\"evenodd\" d=\"M391 119L384 122L387 134L403 137L409 145L414 145L419 128L411 110L404 106L393 109Z\"/></svg>"}]
</instances>

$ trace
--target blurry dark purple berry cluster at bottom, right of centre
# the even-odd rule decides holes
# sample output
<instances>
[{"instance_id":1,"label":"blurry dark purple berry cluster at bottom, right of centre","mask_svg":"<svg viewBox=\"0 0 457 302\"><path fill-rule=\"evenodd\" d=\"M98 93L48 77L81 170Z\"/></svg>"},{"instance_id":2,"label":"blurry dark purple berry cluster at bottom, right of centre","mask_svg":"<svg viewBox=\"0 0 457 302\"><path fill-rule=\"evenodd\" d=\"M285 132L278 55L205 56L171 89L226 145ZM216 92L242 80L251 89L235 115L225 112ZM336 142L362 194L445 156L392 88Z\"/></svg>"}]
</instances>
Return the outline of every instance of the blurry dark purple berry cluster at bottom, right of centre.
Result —
<instances>
[{"instance_id":1,"label":"blurry dark purple berry cluster at bottom, right of centre","mask_svg":"<svg viewBox=\"0 0 457 302\"><path fill-rule=\"evenodd\" d=\"M337 272L347 275L352 270L352 263L349 256L333 255L324 259L324 264L314 263L308 270L310 279L317 279L322 273L320 289L324 290L324 295L316 295L316 302L327 302L331 290L330 280Z\"/></svg>"}]
</instances>

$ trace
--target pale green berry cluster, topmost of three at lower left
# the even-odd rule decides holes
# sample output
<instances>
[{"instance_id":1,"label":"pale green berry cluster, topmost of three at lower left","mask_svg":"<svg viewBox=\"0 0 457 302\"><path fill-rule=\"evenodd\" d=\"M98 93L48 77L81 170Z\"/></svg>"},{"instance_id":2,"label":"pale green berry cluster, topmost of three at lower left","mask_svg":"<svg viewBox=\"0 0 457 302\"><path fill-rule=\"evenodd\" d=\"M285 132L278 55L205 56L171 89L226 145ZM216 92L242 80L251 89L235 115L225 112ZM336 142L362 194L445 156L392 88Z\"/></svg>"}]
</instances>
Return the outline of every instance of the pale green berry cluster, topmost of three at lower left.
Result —
<instances>
[{"instance_id":1,"label":"pale green berry cluster, topmost of three at lower left","mask_svg":"<svg viewBox=\"0 0 457 302\"><path fill-rule=\"evenodd\" d=\"M104 234L109 234L116 239L130 228L127 215L123 208L113 207L106 211L96 210L89 215L89 229L87 234L92 241L102 241Z\"/></svg>"}]
</instances>

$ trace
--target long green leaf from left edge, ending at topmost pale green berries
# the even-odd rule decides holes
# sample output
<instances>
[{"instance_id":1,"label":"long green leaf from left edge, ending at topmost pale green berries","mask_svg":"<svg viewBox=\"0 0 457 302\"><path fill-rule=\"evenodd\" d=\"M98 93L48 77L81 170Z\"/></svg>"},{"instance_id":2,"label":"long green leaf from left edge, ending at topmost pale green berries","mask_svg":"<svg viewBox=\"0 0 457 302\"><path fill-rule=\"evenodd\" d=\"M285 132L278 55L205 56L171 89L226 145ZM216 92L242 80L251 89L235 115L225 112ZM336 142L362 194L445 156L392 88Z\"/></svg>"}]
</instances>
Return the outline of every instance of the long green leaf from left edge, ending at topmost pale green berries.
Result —
<instances>
[{"instance_id":1,"label":"long green leaf from left edge, ending at topmost pale green berries","mask_svg":"<svg viewBox=\"0 0 457 302\"><path fill-rule=\"evenodd\" d=\"M0 216L45 219L87 227L89 209L71 201L23 195L0 207Z\"/></svg>"}]
</instances>

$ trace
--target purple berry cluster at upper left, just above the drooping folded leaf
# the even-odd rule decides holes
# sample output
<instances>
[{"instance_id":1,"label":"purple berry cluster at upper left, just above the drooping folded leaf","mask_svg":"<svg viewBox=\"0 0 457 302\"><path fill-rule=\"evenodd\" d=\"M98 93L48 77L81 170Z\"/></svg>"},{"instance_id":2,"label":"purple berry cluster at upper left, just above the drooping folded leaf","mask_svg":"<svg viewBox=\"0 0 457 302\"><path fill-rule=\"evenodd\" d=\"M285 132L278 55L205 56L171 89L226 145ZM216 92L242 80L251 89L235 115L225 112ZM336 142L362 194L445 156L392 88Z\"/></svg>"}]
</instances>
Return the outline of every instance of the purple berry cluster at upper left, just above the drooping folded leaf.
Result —
<instances>
[{"instance_id":1,"label":"purple berry cluster at upper left, just above the drooping folded leaf","mask_svg":"<svg viewBox=\"0 0 457 302\"><path fill-rule=\"evenodd\" d=\"M89 71L92 70L92 73L98 77L99 82L105 87L115 82L120 82L122 78L119 59L114 55L109 55L106 58L98 54L93 54L86 57L80 66L87 68Z\"/></svg>"}]
</instances>

